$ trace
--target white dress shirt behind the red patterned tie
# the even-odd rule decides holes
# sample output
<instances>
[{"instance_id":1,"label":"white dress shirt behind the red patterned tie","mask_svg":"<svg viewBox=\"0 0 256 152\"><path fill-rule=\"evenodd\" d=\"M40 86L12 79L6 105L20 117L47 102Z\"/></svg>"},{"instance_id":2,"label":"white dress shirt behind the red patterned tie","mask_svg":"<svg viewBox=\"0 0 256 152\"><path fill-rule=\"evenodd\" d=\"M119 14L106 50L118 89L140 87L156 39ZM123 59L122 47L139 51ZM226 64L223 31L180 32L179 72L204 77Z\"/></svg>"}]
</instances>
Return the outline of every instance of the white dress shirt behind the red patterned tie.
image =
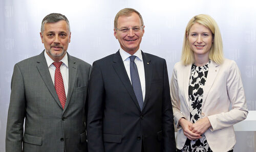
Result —
<instances>
[{"instance_id":1,"label":"white dress shirt behind the red patterned tie","mask_svg":"<svg viewBox=\"0 0 256 152\"><path fill-rule=\"evenodd\" d=\"M47 66L49 68L49 72L54 85L54 75L55 75L55 69L56 69L56 67L52 64L54 60L52 60L52 58L46 53L46 51L45 51L45 58L46 58ZM69 90L69 61L68 61L67 53L60 61L62 62L62 64L59 69L63 79L65 93L67 97L68 90Z\"/></svg>"}]
</instances>

